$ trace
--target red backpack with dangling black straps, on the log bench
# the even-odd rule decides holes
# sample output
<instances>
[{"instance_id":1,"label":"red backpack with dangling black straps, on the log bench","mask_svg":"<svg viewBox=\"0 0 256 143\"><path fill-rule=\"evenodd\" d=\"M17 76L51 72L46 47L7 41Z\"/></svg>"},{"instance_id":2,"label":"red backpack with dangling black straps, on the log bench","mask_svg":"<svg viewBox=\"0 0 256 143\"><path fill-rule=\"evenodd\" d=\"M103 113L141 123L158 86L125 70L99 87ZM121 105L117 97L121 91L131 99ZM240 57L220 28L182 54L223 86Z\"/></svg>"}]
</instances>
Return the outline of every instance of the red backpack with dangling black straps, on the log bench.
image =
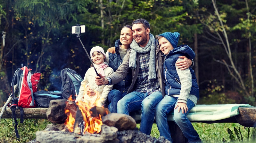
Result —
<instances>
[{"instance_id":1,"label":"red backpack with dangling black straps, on the log bench","mask_svg":"<svg viewBox=\"0 0 256 143\"><path fill-rule=\"evenodd\" d=\"M12 110L12 122L14 119L15 125L15 133L16 137L19 139L19 134L17 130L18 122L16 120L15 110L16 107L20 108L21 112L21 121L23 123L23 108L34 108L36 107L36 103L34 100L34 95L37 91L38 82L40 79L41 73L37 72L32 74L30 71L32 69L28 69L26 66L22 68L18 68L13 75L12 78L12 103L8 106L11 107Z\"/></svg>"}]
</instances>

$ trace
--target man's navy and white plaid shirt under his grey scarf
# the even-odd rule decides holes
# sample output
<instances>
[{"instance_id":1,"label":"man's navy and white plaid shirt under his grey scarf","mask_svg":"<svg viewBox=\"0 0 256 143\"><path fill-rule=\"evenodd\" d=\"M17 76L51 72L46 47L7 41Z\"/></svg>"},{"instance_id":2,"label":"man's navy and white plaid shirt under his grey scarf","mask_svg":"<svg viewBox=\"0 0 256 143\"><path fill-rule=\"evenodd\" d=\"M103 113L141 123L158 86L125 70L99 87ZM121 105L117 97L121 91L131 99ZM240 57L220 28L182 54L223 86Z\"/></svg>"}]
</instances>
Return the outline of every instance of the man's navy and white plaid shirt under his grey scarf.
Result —
<instances>
[{"instance_id":1,"label":"man's navy and white plaid shirt under his grey scarf","mask_svg":"<svg viewBox=\"0 0 256 143\"><path fill-rule=\"evenodd\" d=\"M149 80L148 73L149 73L149 56L150 52L145 54L139 54L140 65L139 65L139 73L135 83L135 90L136 92L148 92L148 95L152 94L155 91L160 91L160 84L158 79ZM154 65L155 67L155 65ZM156 76L157 77L157 76Z\"/></svg>"}]
</instances>

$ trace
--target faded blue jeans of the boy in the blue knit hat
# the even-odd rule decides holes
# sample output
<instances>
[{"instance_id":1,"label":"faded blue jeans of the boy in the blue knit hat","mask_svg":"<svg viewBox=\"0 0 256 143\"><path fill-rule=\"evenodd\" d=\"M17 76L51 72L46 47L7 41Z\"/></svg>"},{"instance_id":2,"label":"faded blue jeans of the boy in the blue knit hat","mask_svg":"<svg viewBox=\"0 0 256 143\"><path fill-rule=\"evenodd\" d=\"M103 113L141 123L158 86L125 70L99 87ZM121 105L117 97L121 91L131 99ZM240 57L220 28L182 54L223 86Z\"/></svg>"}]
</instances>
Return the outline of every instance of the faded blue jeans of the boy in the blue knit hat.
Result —
<instances>
[{"instance_id":1,"label":"faded blue jeans of the boy in the blue knit hat","mask_svg":"<svg viewBox=\"0 0 256 143\"><path fill-rule=\"evenodd\" d=\"M160 132L160 136L164 136L166 139L173 142L171 139L171 133L167 123L167 115L171 112L176 106L178 97L172 97L165 95L164 99L161 100L155 109L155 119L157 128ZM194 102L187 100L187 113L182 114L182 111L178 112L177 109L174 110L174 122L179 126L184 136L188 139L190 143L200 143L201 139L199 138L198 133L195 131L193 125L187 118L188 112L194 107Z\"/></svg>"}]
</instances>

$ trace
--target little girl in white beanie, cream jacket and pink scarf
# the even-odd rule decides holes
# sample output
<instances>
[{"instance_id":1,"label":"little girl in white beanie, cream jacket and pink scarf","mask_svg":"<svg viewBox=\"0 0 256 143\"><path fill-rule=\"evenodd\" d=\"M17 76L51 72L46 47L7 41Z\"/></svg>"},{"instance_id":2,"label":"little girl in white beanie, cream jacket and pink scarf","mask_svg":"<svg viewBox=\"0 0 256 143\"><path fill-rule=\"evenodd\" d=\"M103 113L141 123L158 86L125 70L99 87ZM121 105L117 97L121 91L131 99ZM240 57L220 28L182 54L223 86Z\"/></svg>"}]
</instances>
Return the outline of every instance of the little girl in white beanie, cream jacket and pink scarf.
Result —
<instances>
[{"instance_id":1,"label":"little girl in white beanie, cream jacket and pink scarf","mask_svg":"<svg viewBox=\"0 0 256 143\"><path fill-rule=\"evenodd\" d=\"M90 52L91 59L98 73L103 76L109 76L113 73L113 69L108 66L105 62L106 55L103 48L96 46L91 49ZM81 82L81 87L79 89L77 101L87 102L89 106L104 106L108 98L108 93L111 91L113 85L102 85L97 86L95 84L96 72L91 65L91 67L85 73L85 78ZM87 95L86 87L90 86L91 89L96 93L96 95Z\"/></svg>"}]
</instances>

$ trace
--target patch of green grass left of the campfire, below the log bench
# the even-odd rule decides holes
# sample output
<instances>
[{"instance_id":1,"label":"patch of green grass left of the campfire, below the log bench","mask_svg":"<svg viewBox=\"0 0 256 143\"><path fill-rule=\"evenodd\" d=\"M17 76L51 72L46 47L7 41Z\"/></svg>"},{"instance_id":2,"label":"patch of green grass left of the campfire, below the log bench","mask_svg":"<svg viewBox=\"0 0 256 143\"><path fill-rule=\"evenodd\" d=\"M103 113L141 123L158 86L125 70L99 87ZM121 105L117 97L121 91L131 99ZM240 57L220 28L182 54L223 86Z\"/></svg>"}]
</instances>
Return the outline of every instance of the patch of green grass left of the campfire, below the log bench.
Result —
<instances>
[{"instance_id":1,"label":"patch of green grass left of the campfire, below the log bench","mask_svg":"<svg viewBox=\"0 0 256 143\"><path fill-rule=\"evenodd\" d=\"M19 123L20 119L17 119L17 122ZM24 119L24 123L19 123L17 126L21 139L21 141L18 141L16 139L14 127L12 126L12 119L1 119L0 142L28 142L35 139L35 133L44 130L47 124L50 124L50 122L44 119Z\"/></svg>"}]
</instances>

